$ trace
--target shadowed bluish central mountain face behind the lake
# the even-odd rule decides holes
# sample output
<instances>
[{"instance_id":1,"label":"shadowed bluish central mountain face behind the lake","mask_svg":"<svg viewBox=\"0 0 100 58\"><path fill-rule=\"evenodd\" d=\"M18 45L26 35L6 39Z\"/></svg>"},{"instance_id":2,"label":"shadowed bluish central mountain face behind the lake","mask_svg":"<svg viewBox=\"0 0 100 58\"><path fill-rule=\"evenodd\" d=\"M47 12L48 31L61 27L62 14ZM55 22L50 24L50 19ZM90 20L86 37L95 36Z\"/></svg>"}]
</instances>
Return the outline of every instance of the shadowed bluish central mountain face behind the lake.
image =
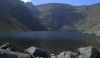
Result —
<instances>
[{"instance_id":1,"label":"shadowed bluish central mountain face behind the lake","mask_svg":"<svg viewBox=\"0 0 100 58\"><path fill-rule=\"evenodd\" d=\"M49 3L36 6L39 17L46 28L53 31L74 30L74 25L84 19L85 15L77 12L75 6L61 3Z\"/></svg>"}]
</instances>

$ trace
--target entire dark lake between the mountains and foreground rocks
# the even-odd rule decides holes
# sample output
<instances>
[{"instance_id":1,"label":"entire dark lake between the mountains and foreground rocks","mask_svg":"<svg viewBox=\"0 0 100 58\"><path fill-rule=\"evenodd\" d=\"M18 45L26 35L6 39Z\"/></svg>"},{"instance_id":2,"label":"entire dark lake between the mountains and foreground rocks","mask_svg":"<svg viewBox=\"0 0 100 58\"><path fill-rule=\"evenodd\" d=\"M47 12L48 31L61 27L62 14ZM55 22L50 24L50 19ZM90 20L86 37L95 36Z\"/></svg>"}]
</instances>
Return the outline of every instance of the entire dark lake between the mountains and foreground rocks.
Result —
<instances>
[{"instance_id":1,"label":"entire dark lake between the mountains and foreground rocks","mask_svg":"<svg viewBox=\"0 0 100 58\"><path fill-rule=\"evenodd\" d=\"M1 32L0 45L10 42L20 52L27 47L35 46L49 53L59 53L83 46L99 45L96 41L90 40L93 37L78 31Z\"/></svg>"}]
</instances>

